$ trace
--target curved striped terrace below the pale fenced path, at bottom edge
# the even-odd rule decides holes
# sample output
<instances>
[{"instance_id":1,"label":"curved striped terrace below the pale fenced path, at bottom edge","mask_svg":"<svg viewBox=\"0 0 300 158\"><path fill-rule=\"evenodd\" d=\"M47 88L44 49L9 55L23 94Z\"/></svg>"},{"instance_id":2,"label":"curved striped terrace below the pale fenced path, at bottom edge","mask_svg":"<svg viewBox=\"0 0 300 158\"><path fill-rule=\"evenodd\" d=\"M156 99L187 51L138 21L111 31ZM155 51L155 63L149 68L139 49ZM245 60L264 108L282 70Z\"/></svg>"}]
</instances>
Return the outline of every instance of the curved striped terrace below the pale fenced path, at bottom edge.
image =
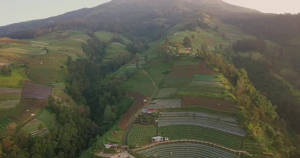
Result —
<instances>
[{"instance_id":1,"label":"curved striped terrace below the pale fenced path, at bottom edge","mask_svg":"<svg viewBox=\"0 0 300 158\"><path fill-rule=\"evenodd\" d=\"M178 143L167 144L161 146L155 146L149 149L145 149L137 152L140 155L146 157L211 157L211 158L234 158L239 157L233 153L223 151L213 146L205 144L193 144L193 143Z\"/></svg>"}]
</instances>

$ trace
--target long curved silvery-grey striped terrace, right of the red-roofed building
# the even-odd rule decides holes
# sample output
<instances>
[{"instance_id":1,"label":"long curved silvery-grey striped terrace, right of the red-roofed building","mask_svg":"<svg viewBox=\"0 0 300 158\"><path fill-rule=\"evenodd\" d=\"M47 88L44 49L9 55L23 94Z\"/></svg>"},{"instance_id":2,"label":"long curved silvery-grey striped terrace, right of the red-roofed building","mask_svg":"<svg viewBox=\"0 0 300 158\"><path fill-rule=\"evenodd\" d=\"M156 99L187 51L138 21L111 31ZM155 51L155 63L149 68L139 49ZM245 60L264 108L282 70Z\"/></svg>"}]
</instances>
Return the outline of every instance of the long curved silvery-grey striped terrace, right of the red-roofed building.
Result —
<instances>
[{"instance_id":1,"label":"long curved silvery-grey striped terrace, right of the red-roofed building","mask_svg":"<svg viewBox=\"0 0 300 158\"><path fill-rule=\"evenodd\" d=\"M164 112L158 117L158 126L197 125L244 137L246 132L234 118L196 112Z\"/></svg>"}]
</instances>

